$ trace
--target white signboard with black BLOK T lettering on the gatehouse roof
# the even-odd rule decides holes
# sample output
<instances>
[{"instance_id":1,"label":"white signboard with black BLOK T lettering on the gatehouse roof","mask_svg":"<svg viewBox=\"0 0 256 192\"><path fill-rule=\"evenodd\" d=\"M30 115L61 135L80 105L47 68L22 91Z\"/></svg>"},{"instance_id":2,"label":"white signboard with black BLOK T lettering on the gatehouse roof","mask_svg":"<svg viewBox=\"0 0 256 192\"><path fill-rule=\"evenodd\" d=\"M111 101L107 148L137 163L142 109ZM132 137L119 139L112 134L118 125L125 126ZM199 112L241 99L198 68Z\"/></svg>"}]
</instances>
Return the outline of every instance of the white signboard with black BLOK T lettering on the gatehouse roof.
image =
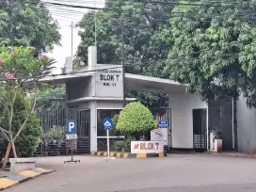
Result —
<instances>
[{"instance_id":1,"label":"white signboard with black BLOK T lettering on the gatehouse roof","mask_svg":"<svg viewBox=\"0 0 256 192\"><path fill-rule=\"evenodd\" d=\"M104 65L96 73L98 97L120 97L123 95L122 68L120 65ZM107 69L108 68L108 69Z\"/></svg>"}]
</instances>

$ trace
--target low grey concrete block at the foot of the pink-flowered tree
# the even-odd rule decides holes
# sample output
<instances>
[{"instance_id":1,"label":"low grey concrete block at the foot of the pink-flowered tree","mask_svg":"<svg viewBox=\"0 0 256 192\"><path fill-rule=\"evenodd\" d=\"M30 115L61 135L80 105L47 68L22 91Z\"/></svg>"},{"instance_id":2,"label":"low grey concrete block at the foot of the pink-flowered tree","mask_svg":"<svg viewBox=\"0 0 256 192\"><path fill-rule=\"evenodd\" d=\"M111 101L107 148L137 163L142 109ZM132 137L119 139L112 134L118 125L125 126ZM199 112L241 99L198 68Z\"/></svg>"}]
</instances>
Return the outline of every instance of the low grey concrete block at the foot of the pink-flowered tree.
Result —
<instances>
[{"instance_id":1,"label":"low grey concrete block at the foot of the pink-flowered tree","mask_svg":"<svg viewBox=\"0 0 256 192\"><path fill-rule=\"evenodd\" d=\"M36 168L36 160L31 158L10 158L10 173L15 174L22 170Z\"/></svg>"}]
</instances>

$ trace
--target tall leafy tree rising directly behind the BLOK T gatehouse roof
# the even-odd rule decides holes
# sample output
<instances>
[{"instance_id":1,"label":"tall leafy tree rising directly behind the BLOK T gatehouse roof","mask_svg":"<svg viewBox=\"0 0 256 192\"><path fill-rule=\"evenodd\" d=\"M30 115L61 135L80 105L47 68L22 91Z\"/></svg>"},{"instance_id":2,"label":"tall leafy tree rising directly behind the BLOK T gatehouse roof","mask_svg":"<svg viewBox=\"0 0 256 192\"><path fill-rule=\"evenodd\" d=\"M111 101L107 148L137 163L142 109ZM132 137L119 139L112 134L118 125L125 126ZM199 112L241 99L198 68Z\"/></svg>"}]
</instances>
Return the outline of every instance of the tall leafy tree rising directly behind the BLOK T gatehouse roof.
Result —
<instances>
[{"instance_id":1,"label":"tall leafy tree rising directly behind the BLOK T gatehouse roof","mask_svg":"<svg viewBox=\"0 0 256 192\"><path fill-rule=\"evenodd\" d=\"M167 2L162 0L160 2ZM124 29L125 72L163 77L165 60L168 56L169 42L159 39L160 28L168 24L171 4L149 4L142 1L106 1L105 9L97 12L96 39L98 63L121 63L121 23ZM127 11L128 10L128 11ZM77 56L85 65L88 63L88 46L95 42L95 13L85 14L79 26L81 43ZM136 94L134 94L136 93ZM143 103L141 92L130 92ZM144 94L143 94L144 95ZM148 93L147 98L165 100L164 95ZM155 104L159 106L160 103Z\"/></svg>"}]
</instances>

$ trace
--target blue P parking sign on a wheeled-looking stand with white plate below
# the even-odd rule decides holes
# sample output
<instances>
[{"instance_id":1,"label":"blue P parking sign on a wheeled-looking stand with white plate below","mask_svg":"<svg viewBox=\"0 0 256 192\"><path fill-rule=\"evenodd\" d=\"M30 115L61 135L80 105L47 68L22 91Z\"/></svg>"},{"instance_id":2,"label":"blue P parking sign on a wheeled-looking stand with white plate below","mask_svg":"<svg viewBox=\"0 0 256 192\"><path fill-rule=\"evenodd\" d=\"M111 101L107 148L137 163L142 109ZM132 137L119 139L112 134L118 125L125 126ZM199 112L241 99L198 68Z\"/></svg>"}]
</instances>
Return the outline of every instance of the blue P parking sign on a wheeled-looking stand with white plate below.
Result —
<instances>
[{"instance_id":1,"label":"blue P parking sign on a wheeled-looking stand with white plate below","mask_svg":"<svg viewBox=\"0 0 256 192\"><path fill-rule=\"evenodd\" d=\"M76 127L75 127L75 120L68 120L68 134L66 135L66 139L70 141L70 146L71 146L71 151L73 148L73 141L77 139L77 134L76 134ZM80 163L80 160L72 160L70 161L64 161L64 163Z\"/></svg>"}]
</instances>

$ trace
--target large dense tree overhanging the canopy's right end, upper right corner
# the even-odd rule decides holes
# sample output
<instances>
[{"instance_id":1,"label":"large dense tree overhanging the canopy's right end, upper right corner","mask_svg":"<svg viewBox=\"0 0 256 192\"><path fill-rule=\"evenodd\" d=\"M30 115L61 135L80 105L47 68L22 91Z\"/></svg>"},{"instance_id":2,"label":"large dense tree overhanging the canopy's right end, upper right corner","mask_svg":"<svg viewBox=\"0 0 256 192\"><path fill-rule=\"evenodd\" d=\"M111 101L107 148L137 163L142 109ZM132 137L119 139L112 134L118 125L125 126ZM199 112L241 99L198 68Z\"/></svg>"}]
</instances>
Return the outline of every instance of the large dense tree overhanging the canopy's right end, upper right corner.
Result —
<instances>
[{"instance_id":1,"label":"large dense tree overhanging the canopy's right end, upper right corner","mask_svg":"<svg viewBox=\"0 0 256 192\"><path fill-rule=\"evenodd\" d=\"M197 91L205 100L243 92L256 106L255 1L186 1L162 38L173 42L168 55L170 78Z\"/></svg>"}]
</instances>

